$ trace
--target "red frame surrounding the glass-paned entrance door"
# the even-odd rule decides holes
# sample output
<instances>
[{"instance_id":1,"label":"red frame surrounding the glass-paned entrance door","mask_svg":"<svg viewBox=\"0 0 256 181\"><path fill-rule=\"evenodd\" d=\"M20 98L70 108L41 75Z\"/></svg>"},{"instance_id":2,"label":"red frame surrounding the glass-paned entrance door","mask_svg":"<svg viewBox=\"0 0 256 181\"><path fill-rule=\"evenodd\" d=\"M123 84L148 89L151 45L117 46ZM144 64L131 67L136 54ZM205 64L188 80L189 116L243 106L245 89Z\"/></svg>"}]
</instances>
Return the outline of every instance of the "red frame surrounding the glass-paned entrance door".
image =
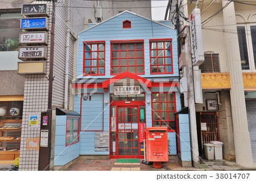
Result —
<instances>
[{"instance_id":1,"label":"red frame surrounding the glass-paned entrance door","mask_svg":"<svg viewBox=\"0 0 256 181\"><path fill-rule=\"evenodd\" d=\"M130 103L127 103L127 102L130 102ZM139 106L145 106L145 108L146 108L145 100L113 101L113 102L110 103L110 105L111 106L117 106L116 115L115 115L116 116L115 125L117 125L116 126L117 128L115 129L115 133L116 133L117 137L116 137L116 146L115 146L116 155L111 155L110 149L109 149L109 159L112 159L112 158L115 158L115 159L117 159L117 158L139 158L139 159L143 159L144 155L141 155L139 140L138 140L138 152L139 152L138 156L119 155L118 154L118 108L121 108L121 107L138 107L138 123L139 123L139 120L140 120ZM111 106L110 106L110 109L111 109ZM110 120L111 120L111 115L110 115ZM146 112L145 112L145 120L146 120ZM146 127L146 121L145 121L145 127ZM111 129L111 121L110 121L110 129ZM111 132L111 130L110 130L110 132ZM109 143L111 144L111 142L112 142L112 140L111 140L111 137L110 137Z\"/></svg>"}]
</instances>

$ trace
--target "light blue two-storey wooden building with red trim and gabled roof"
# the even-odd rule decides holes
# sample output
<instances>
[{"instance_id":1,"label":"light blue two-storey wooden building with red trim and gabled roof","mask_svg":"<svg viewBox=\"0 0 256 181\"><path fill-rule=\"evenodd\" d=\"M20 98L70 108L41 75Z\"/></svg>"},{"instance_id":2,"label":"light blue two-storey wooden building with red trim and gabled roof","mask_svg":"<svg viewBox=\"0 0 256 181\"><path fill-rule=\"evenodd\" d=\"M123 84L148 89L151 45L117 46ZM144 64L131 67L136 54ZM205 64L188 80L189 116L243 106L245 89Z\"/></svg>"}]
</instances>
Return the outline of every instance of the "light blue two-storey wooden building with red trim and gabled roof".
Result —
<instances>
[{"instance_id":1,"label":"light blue two-storey wooden building with red trim and gabled roof","mask_svg":"<svg viewBox=\"0 0 256 181\"><path fill-rule=\"evenodd\" d=\"M55 166L79 155L143 158L143 126L167 127L170 155L191 163L188 116L177 122L174 114L181 104L170 26L124 11L79 33L72 88L81 117L57 116Z\"/></svg>"}]
</instances>

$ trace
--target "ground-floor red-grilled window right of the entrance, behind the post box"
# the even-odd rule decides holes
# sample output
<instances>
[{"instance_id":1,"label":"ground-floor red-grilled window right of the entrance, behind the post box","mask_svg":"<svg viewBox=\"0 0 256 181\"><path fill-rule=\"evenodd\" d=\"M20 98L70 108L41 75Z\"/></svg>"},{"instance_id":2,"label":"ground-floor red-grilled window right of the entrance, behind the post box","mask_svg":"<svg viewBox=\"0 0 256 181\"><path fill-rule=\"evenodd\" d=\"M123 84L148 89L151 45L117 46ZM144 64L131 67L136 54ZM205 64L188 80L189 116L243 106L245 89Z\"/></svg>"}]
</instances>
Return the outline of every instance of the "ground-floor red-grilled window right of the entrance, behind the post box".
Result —
<instances>
[{"instance_id":1,"label":"ground-floor red-grilled window right of the entrance, behind the post box","mask_svg":"<svg viewBox=\"0 0 256 181\"><path fill-rule=\"evenodd\" d=\"M168 132L176 131L174 113L176 112L175 93L153 92L152 102L152 127L167 127Z\"/></svg>"}]
</instances>

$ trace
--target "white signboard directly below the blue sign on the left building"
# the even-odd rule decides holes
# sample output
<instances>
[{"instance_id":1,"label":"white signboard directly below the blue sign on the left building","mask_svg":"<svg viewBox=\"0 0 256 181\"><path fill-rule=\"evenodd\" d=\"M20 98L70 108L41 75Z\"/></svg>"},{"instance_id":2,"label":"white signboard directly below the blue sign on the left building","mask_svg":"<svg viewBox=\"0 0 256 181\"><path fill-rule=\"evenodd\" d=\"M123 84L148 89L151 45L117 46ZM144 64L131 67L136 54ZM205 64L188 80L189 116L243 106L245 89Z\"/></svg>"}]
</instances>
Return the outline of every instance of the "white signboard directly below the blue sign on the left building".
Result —
<instances>
[{"instance_id":1,"label":"white signboard directly below the blue sign on the left building","mask_svg":"<svg viewBox=\"0 0 256 181\"><path fill-rule=\"evenodd\" d=\"M48 33L44 32L20 32L20 44L47 44Z\"/></svg>"}]
</instances>

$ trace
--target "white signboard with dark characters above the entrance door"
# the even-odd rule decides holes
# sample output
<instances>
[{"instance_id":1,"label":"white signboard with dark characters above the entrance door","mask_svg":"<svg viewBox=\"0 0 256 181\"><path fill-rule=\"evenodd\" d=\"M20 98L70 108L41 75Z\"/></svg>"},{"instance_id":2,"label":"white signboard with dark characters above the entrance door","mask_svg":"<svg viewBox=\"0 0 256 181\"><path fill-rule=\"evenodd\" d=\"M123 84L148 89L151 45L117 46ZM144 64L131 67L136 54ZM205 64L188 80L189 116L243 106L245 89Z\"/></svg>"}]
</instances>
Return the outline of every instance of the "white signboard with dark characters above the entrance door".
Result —
<instances>
[{"instance_id":1,"label":"white signboard with dark characters above the entrance door","mask_svg":"<svg viewBox=\"0 0 256 181\"><path fill-rule=\"evenodd\" d=\"M114 86L114 95L139 95L141 86Z\"/></svg>"}]
</instances>

